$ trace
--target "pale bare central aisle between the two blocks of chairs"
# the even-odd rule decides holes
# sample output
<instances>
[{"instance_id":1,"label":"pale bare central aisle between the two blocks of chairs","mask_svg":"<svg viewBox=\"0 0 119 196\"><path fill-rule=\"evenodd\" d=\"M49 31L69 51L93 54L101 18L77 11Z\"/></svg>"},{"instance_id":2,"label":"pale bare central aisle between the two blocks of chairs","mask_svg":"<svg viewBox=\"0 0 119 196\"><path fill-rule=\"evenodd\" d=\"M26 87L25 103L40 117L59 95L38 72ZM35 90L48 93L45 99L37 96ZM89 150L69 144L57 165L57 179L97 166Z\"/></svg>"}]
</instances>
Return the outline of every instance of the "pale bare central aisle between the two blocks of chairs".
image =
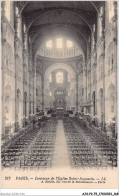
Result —
<instances>
[{"instance_id":1,"label":"pale bare central aisle between the two blocks of chairs","mask_svg":"<svg viewBox=\"0 0 119 196\"><path fill-rule=\"evenodd\" d=\"M55 143L52 167L53 168L70 167L62 120L58 120L58 125L57 125L57 130L56 130L56 143Z\"/></svg>"}]
</instances>

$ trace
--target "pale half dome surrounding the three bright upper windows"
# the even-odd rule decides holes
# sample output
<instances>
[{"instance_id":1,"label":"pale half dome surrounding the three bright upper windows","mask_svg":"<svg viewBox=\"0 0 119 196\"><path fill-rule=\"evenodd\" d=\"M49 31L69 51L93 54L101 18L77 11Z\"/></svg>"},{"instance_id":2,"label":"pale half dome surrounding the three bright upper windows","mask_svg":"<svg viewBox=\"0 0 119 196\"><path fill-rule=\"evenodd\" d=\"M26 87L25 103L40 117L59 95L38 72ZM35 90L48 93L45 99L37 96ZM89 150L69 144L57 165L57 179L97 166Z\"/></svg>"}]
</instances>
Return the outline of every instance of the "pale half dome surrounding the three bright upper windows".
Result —
<instances>
[{"instance_id":1,"label":"pale half dome surrounding the three bright upper windows","mask_svg":"<svg viewBox=\"0 0 119 196\"><path fill-rule=\"evenodd\" d=\"M56 33L56 32L55 32ZM80 44L74 39L69 38L68 36L61 33L59 36L62 39L62 47L58 48L55 44L57 41L57 36L46 36L41 43L39 43L36 55L46 57L46 58L54 58L54 59L64 59L64 58L73 58L77 56L84 56L84 52ZM72 47L67 47L67 41L71 40ZM52 41L52 47L47 47L47 42Z\"/></svg>"}]
</instances>

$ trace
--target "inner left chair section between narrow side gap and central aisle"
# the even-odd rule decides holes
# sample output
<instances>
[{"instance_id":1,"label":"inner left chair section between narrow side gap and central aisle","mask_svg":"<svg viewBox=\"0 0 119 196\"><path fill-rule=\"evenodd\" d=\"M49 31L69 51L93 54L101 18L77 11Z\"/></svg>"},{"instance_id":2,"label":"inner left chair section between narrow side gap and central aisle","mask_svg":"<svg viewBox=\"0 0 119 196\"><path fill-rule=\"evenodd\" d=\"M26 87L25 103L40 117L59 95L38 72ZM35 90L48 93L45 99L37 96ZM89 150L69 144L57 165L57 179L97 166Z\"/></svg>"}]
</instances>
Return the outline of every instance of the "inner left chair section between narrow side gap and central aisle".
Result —
<instances>
[{"instance_id":1,"label":"inner left chair section between narrow side gap and central aisle","mask_svg":"<svg viewBox=\"0 0 119 196\"><path fill-rule=\"evenodd\" d=\"M45 169L52 166L57 120L50 119L20 161L21 168Z\"/></svg>"}]
</instances>

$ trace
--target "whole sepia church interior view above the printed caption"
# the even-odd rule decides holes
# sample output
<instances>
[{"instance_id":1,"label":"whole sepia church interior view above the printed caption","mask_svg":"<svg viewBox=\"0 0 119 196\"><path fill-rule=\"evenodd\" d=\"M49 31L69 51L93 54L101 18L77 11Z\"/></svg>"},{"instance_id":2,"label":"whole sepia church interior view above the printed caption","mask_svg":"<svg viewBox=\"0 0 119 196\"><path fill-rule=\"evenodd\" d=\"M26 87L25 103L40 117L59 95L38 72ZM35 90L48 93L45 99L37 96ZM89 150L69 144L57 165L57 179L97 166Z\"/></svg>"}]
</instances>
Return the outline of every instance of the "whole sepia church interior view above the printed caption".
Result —
<instances>
[{"instance_id":1,"label":"whole sepia church interior view above the printed caption","mask_svg":"<svg viewBox=\"0 0 119 196\"><path fill-rule=\"evenodd\" d=\"M1 2L3 168L117 167L117 1Z\"/></svg>"}]
</instances>

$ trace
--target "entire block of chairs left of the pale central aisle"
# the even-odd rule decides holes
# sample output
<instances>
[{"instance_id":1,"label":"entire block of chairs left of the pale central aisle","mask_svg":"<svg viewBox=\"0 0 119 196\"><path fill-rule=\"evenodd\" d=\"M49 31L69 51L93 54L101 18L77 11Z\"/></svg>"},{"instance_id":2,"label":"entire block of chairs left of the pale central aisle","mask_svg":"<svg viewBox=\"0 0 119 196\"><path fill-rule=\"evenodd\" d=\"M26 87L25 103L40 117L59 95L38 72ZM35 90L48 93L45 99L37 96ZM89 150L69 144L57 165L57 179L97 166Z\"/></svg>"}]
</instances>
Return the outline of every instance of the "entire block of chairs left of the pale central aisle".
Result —
<instances>
[{"instance_id":1,"label":"entire block of chairs left of the pale central aisle","mask_svg":"<svg viewBox=\"0 0 119 196\"><path fill-rule=\"evenodd\" d=\"M48 120L25 132L9 148L2 151L2 167L49 167L56 135L56 120Z\"/></svg>"}]
</instances>

